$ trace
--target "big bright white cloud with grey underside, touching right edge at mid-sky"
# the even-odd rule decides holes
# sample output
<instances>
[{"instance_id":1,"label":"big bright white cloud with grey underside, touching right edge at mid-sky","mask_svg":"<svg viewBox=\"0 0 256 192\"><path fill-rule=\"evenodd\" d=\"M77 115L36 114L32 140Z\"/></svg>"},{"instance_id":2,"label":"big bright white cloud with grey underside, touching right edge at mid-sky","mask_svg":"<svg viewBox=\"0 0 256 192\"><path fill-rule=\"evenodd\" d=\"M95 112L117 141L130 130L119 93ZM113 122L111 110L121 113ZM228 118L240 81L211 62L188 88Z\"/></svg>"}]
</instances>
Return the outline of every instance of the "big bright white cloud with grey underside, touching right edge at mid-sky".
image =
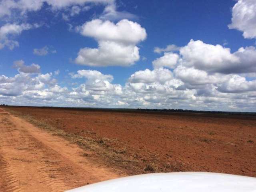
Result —
<instances>
[{"instance_id":1,"label":"big bright white cloud with grey underside, touching right edge at mid-sky","mask_svg":"<svg viewBox=\"0 0 256 192\"><path fill-rule=\"evenodd\" d=\"M180 59L179 59L180 58ZM221 45L206 44L200 40L190 42L180 48L179 54L165 52L153 61L153 66L175 68L184 66L208 73L246 74L256 72L256 48L239 48L231 53Z\"/></svg>"}]
</instances>

